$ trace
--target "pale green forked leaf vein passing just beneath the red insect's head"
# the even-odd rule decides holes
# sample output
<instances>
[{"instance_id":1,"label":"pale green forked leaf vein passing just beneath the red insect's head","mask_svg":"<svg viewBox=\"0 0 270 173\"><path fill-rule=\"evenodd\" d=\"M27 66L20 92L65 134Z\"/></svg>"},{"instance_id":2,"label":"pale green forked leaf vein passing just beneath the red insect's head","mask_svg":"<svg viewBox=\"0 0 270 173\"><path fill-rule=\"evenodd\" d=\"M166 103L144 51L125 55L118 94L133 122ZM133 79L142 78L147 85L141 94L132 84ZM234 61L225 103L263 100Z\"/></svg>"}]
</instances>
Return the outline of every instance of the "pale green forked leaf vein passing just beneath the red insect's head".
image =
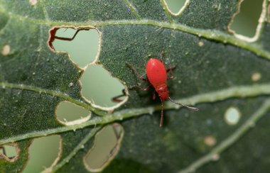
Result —
<instances>
[{"instance_id":1,"label":"pale green forked leaf vein passing just beneath the red insect's head","mask_svg":"<svg viewBox=\"0 0 270 173\"><path fill-rule=\"evenodd\" d=\"M105 113L99 110L92 108L92 106L83 103L82 101L77 101L76 99L73 99L72 97L68 96L67 94L60 93L59 91L53 91L48 89L41 89L36 86L26 86L22 84L9 84L9 83L0 83L1 88L0 89L22 89L22 90L28 90L28 91L36 91L37 93L42 94L50 94L53 96L59 96L63 99L69 99L68 101L72 102L73 104L77 104L78 106L84 105L84 108L87 108L89 111L93 111L95 113L99 113L99 117L91 118L89 121L86 121L84 123L75 124L75 125L67 125L59 128L51 128L48 130L41 130L41 131L35 131L32 133L25 133L23 135L17 135L13 136L11 138L4 138L0 140L0 145L4 143L13 143L18 140L24 140L27 138L36 138L44 135L51 135L54 133L61 133L69 130L77 130L81 128L85 128L90 125L99 125L104 123L112 123L114 121L122 121L126 118L131 118L135 116L140 116L145 113L153 113L153 111L158 111L161 109L161 106L148 106L144 108L129 108L129 109L123 109L121 111L115 111L114 113ZM261 95L269 95L270 94L270 83L267 84L253 84L250 86L232 86L227 89L222 89L218 91L212 91L207 94L198 94L195 96L190 96L185 99L177 100L178 102L181 102L183 104L200 104L200 103L209 103L209 102L215 102L215 101L222 101L229 98L245 98L245 97L251 97L251 96L261 96ZM171 102L165 102L164 109L177 109L180 108L179 105L175 105Z\"/></svg>"}]
</instances>

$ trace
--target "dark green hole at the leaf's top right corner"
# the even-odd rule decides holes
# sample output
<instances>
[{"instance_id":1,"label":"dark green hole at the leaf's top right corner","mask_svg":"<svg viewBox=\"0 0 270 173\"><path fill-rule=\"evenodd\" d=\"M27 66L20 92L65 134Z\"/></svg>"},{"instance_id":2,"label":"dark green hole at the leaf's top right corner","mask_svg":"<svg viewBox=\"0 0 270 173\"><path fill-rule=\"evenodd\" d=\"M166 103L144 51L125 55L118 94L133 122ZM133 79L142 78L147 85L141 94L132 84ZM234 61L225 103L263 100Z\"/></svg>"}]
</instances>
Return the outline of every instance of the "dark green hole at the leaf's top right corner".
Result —
<instances>
[{"instance_id":1,"label":"dark green hole at the leaf's top right corner","mask_svg":"<svg viewBox=\"0 0 270 173\"><path fill-rule=\"evenodd\" d=\"M240 35L253 37L261 14L262 2L263 0L244 0L240 6L240 12L234 16L229 28Z\"/></svg>"}]
</instances>

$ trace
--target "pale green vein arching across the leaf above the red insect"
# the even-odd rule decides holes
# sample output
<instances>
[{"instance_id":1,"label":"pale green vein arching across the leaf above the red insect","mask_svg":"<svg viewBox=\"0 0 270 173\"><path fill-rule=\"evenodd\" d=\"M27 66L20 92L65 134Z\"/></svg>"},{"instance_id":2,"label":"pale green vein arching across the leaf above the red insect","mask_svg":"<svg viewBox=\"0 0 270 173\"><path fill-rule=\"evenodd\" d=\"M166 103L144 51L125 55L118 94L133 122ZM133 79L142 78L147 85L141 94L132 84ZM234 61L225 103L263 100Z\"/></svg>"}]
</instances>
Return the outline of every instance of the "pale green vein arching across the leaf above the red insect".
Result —
<instances>
[{"instance_id":1,"label":"pale green vein arching across the leaf above the red insect","mask_svg":"<svg viewBox=\"0 0 270 173\"><path fill-rule=\"evenodd\" d=\"M0 4L1 6L1 4ZM190 33L192 35L197 35L200 38L206 38L208 40L215 40L216 42L225 43L234 45L239 48L243 48L245 50L249 50L254 54L264 57L267 60L270 60L270 52L264 50L257 43L249 43L244 40L240 40L236 38L234 35L229 35L227 33L223 33L220 30L205 30L205 29L197 29L189 26L184 26L179 23L168 23L154 20L112 20L112 21L87 21L85 23L77 23L77 22L63 22L63 21L48 21L48 19L37 19L37 18L28 18L26 16L19 16L16 13L6 12L5 9L0 8L0 12L6 13L10 18L15 18L17 21L28 21L30 23L41 24L46 26L65 26L65 28L70 27L84 27L87 28L99 28L104 26L118 26L118 25L142 25L142 26L156 26L158 28L167 28L172 30L179 30L185 33Z\"/></svg>"}]
</instances>

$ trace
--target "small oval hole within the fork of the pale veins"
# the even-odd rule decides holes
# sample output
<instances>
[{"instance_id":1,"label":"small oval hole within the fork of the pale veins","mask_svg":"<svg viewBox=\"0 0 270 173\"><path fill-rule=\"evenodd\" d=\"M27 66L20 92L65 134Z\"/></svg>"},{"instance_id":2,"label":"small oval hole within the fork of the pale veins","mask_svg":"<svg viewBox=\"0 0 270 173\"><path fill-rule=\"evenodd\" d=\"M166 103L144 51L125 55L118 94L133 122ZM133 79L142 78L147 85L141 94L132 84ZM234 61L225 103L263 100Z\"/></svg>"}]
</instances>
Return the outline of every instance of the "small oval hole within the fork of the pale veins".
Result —
<instances>
[{"instance_id":1,"label":"small oval hole within the fork of the pale veins","mask_svg":"<svg viewBox=\"0 0 270 173\"><path fill-rule=\"evenodd\" d=\"M74 125L90 119L90 111L72 104L68 101L61 102L56 108L56 117L60 123Z\"/></svg>"}]
</instances>

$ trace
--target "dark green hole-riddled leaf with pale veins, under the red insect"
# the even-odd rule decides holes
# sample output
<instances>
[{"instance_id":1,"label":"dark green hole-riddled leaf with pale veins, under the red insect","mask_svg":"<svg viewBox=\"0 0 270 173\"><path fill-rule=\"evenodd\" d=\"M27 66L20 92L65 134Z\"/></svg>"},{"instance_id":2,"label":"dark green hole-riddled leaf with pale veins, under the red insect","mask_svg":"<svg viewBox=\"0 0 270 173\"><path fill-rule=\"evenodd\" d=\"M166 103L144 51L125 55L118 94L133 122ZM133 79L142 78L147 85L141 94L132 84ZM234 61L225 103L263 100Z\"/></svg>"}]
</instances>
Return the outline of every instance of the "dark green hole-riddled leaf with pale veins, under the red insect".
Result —
<instances>
[{"instance_id":1,"label":"dark green hole-riddled leaf with pale veins, under the red insect","mask_svg":"<svg viewBox=\"0 0 270 173\"><path fill-rule=\"evenodd\" d=\"M267 172L268 1L253 43L227 29L238 0L188 2L183 13L173 16L163 0L1 0L0 145L18 143L21 152L15 162L0 157L0 172L21 172L31 140L53 134L62 138L62 153L50 170L87 172L83 157L95 133L115 121L123 126L124 138L104 172ZM166 103L159 128L159 101L151 100L151 91L136 90L114 113L92 107L80 95L83 70L68 54L48 48L49 30L60 26L97 28L102 33L98 63L127 86L139 81L125 62L144 74L147 60L164 52L175 66L168 82L171 98L200 111ZM92 118L61 125L55 119L61 101L92 111ZM240 116L235 125L225 121L228 108ZM205 137L216 143L209 145Z\"/></svg>"}]
</instances>

